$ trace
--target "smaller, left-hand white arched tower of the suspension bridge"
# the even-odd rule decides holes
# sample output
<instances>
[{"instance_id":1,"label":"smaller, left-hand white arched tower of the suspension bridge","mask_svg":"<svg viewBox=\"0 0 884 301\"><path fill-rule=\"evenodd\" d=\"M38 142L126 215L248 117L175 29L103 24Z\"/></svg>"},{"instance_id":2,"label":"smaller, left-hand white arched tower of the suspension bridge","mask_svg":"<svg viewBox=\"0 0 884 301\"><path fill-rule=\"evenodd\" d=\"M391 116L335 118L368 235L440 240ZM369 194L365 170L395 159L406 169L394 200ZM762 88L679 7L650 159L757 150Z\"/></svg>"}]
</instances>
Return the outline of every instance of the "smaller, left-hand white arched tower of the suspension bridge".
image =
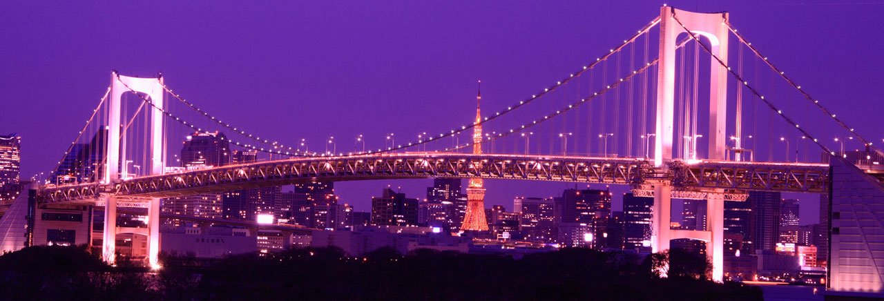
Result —
<instances>
[{"instance_id":1,"label":"smaller, left-hand white arched tower of the suspension bridge","mask_svg":"<svg viewBox=\"0 0 884 301\"><path fill-rule=\"evenodd\" d=\"M108 142L107 159L104 162L101 182L114 184L126 180L129 177L126 170L126 124L122 117L122 95L127 92L147 94L150 102L150 141L149 159L150 166L146 169L149 175L161 175L164 169L164 87L163 77L156 78L133 78L119 75L112 71L110 75L110 94L108 103ZM122 165L120 164L122 162ZM116 262L117 240L117 205L118 197L110 193L102 193L104 203L104 236L102 243L102 258L105 262ZM160 199L137 199L147 203L148 207L148 261L150 267L159 267L157 254L159 253L159 222L160 222Z\"/></svg>"}]
</instances>

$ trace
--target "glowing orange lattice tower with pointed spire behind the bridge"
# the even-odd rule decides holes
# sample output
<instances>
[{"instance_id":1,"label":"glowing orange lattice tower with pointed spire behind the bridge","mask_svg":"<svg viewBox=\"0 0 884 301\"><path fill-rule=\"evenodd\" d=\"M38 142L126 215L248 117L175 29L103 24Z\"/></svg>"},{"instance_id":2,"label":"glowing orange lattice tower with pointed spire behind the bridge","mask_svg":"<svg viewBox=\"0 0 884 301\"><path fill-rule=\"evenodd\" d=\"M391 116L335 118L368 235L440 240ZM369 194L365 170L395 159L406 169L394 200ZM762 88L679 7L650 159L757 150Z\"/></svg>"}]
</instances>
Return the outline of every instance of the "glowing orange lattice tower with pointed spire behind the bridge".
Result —
<instances>
[{"instance_id":1,"label":"glowing orange lattice tower with pointed spire behind the bridge","mask_svg":"<svg viewBox=\"0 0 884 301\"><path fill-rule=\"evenodd\" d=\"M476 94L476 123L473 124L473 154L482 154L482 119L479 114L479 104L482 102L482 80L479 80L479 91ZM467 215L463 218L461 230L487 231L488 222L485 220L485 189L482 187L482 178L469 179L467 187Z\"/></svg>"}]
</instances>

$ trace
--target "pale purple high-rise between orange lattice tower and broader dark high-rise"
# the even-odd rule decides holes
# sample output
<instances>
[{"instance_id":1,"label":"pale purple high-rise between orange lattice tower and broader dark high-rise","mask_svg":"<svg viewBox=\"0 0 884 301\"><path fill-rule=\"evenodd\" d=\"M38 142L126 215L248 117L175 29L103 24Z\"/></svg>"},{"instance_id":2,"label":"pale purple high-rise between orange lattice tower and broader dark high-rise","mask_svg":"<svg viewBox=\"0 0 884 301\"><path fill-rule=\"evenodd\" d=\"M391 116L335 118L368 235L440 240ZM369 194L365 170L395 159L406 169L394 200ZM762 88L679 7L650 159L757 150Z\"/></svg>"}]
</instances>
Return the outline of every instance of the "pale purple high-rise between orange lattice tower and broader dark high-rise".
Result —
<instances>
[{"instance_id":1,"label":"pale purple high-rise between orange lattice tower and broader dark high-rise","mask_svg":"<svg viewBox=\"0 0 884 301\"><path fill-rule=\"evenodd\" d=\"M513 211L520 214L519 230L523 239L544 243L556 240L554 207L552 198L519 197L513 200Z\"/></svg>"}]
</instances>

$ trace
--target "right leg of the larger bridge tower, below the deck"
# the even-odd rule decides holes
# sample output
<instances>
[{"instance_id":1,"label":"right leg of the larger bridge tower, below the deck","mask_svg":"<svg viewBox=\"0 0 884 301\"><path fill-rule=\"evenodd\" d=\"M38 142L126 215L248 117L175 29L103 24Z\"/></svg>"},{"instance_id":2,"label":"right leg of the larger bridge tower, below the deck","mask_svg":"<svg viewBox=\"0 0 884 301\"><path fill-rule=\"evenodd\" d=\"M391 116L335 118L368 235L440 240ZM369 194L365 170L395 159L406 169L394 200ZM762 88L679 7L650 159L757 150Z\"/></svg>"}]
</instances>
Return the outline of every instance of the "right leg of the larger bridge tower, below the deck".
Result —
<instances>
[{"instance_id":1,"label":"right leg of the larger bridge tower, below the deck","mask_svg":"<svg viewBox=\"0 0 884 301\"><path fill-rule=\"evenodd\" d=\"M706 256L712 258L713 281L724 277L724 194L709 193L706 197L706 230L712 232L706 242Z\"/></svg>"}]
</instances>

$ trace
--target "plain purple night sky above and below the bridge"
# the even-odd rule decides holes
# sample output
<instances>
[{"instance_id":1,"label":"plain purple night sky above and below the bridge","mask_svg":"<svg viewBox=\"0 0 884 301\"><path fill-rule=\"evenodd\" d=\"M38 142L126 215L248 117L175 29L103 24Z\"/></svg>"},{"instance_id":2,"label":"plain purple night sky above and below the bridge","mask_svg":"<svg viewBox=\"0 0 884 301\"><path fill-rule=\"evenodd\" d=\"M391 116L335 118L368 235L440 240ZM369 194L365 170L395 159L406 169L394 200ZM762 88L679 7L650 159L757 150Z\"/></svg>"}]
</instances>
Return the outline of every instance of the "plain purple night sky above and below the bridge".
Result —
<instances>
[{"instance_id":1,"label":"plain purple night sky above and below the bridge","mask_svg":"<svg viewBox=\"0 0 884 301\"><path fill-rule=\"evenodd\" d=\"M22 136L22 175L48 171L110 81L164 73L167 85L231 124L294 144L328 136L369 147L500 108L602 55L659 14L659 1L3 2L0 133ZM672 1L729 11L731 23L867 139L880 141L884 4ZM241 124L241 125L240 125ZM820 135L827 136L827 135ZM831 146L830 146L831 147ZM858 147L858 146L849 146ZM425 197L431 180L337 184L369 210L387 184ZM574 184L486 181L486 206ZM618 189L615 195L625 191ZM619 198L615 197L615 202ZM816 195L801 196L802 223ZM615 205L619 207L619 205Z\"/></svg>"}]
</instances>

